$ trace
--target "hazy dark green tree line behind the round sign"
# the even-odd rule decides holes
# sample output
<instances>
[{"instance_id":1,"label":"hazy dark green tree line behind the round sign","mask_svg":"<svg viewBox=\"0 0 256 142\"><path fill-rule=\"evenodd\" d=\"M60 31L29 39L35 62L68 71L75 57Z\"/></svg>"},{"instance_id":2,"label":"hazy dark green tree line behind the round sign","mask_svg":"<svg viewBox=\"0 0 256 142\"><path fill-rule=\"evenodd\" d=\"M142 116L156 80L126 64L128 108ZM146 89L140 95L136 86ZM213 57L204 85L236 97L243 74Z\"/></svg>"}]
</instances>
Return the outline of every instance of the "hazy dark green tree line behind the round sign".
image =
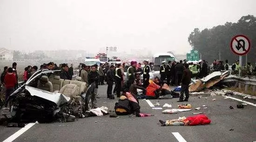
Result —
<instances>
[{"instance_id":1,"label":"hazy dark green tree line behind the round sign","mask_svg":"<svg viewBox=\"0 0 256 142\"><path fill-rule=\"evenodd\" d=\"M244 34L251 41L251 49L247 55L247 61L255 65L256 62L256 17L247 15L241 17L237 23L226 22L225 25L214 26L211 29L205 28L200 31L195 28L190 33L188 41L193 49L202 54L202 59L209 62L221 58L228 59L229 63L239 60L239 56L230 50L230 40L237 34ZM245 55L243 56L245 65Z\"/></svg>"}]
</instances>

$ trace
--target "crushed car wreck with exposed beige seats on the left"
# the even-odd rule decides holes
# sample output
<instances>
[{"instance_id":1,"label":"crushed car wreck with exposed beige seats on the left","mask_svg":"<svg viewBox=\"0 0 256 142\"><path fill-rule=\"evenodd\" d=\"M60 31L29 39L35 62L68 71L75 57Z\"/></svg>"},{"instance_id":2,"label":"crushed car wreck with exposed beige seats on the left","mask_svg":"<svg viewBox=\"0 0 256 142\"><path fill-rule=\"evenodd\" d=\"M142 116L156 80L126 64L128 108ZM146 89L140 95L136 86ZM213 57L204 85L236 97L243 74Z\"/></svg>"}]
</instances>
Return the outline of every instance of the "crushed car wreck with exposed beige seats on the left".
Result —
<instances>
[{"instance_id":1,"label":"crushed car wreck with exposed beige seats on the left","mask_svg":"<svg viewBox=\"0 0 256 142\"><path fill-rule=\"evenodd\" d=\"M5 102L11 122L67 122L85 117L86 110L93 108L94 83L63 80L59 74L60 70L37 71L15 90ZM0 115L6 110L3 107Z\"/></svg>"}]
</instances>

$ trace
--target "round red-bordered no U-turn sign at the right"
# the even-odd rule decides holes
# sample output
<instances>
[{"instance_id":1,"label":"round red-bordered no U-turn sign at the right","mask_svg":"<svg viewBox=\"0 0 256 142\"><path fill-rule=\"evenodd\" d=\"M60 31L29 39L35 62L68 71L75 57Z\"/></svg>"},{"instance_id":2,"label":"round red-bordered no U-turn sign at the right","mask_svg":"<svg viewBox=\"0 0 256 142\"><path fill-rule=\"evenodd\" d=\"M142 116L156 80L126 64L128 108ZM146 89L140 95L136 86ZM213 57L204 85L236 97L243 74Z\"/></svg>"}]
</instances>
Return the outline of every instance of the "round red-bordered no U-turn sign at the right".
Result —
<instances>
[{"instance_id":1,"label":"round red-bordered no U-turn sign at the right","mask_svg":"<svg viewBox=\"0 0 256 142\"><path fill-rule=\"evenodd\" d=\"M231 51L236 55L245 55L251 48L250 40L243 34L238 34L230 41Z\"/></svg>"}]
</instances>

